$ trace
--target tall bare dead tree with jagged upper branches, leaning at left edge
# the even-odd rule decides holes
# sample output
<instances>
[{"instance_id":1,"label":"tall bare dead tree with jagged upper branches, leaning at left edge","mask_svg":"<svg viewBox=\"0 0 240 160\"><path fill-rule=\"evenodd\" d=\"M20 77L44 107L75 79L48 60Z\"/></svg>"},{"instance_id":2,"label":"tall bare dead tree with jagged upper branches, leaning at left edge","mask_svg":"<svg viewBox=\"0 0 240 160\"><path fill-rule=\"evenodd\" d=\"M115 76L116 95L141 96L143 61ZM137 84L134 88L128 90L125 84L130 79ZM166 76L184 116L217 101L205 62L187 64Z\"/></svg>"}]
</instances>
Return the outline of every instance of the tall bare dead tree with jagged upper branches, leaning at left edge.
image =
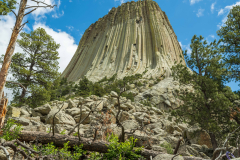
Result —
<instances>
[{"instance_id":1,"label":"tall bare dead tree with jagged upper branches, leaning at left edge","mask_svg":"<svg viewBox=\"0 0 240 160\"><path fill-rule=\"evenodd\" d=\"M16 46L16 41L17 41L18 34L21 32L21 30L23 29L25 24L28 23L28 21L27 21L27 22L22 24L22 20L23 20L24 16L32 13L33 11L35 11L36 9L38 9L40 7L53 8L54 6L56 6L56 5L53 5L53 6L48 5L44 1L40 1L40 0L31 0L33 2L36 2L37 5L36 6L28 6L27 1L28 0L21 0L20 5L19 5L19 10L18 10L17 14L12 10L14 15L16 16L16 22L15 22L15 25L14 25L14 28L13 28L13 31L12 31L12 35L11 35L7 50L5 52L2 68L1 68L1 71L0 71L0 102L2 100L3 90L4 90L4 87L5 87L6 79L7 79L7 75L8 75L8 69L9 69L10 64L11 64L11 59L12 59L13 52L14 52L14 49L15 49L15 46ZM25 13L26 9L32 9L32 10Z\"/></svg>"}]
</instances>

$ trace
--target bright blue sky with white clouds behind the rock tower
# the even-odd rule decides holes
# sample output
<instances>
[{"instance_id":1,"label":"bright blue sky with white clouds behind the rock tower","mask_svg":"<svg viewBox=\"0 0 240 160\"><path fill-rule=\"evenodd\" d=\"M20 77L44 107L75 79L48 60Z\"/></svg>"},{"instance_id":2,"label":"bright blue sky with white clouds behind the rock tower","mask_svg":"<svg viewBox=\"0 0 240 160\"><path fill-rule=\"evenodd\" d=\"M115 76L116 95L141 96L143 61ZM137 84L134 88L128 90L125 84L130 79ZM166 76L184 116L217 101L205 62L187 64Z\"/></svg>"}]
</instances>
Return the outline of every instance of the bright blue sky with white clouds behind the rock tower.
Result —
<instances>
[{"instance_id":1,"label":"bright blue sky with white clouds behind the rock tower","mask_svg":"<svg viewBox=\"0 0 240 160\"><path fill-rule=\"evenodd\" d=\"M19 0L18 0L19 1ZM226 16L240 0L155 0L166 12L183 50L190 50L190 40L194 34L202 35L208 41L218 39L216 31L226 21ZM38 9L24 21L30 23L24 28L29 32L43 27L57 43L59 65L62 72L73 54L84 31L99 18L108 14L112 7L118 7L127 0L45 0L48 4L57 4L54 9ZM28 0L29 5L35 5ZM11 36L15 17L13 14L1 17L0 53L4 54ZM21 52L16 47L16 52ZM232 90L238 90L237 83L228 84Z\"/></svg>"}]
</instances>

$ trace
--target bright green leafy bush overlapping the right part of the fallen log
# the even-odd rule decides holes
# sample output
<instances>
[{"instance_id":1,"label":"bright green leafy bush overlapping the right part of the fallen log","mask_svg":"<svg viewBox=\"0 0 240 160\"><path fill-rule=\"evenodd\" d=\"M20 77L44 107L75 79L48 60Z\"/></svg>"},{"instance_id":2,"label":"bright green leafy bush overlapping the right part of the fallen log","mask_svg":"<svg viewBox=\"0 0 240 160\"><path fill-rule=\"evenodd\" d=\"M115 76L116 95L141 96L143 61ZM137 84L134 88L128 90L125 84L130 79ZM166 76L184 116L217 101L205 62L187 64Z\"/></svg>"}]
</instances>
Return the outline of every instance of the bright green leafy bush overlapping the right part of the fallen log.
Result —
<instances>
[{"instance_id":1,"label":"bright green leafy bush overlapping the right part of the fallen log","mask_svg":"<svg viewBox=\"0 0 240 160\"><path fill-rule=\"evenodd\" d=\"M119 143L118 136L113 134L107 137L107 139L110 142L110 145L108 146L108 152L104 154L103 159L112 160L118 157L120 160L134 160L137 158L143 158L140 155L142 148L137 148L133 151L137 139L130 137L128 141Z\"/></svg>"}]
</instances>

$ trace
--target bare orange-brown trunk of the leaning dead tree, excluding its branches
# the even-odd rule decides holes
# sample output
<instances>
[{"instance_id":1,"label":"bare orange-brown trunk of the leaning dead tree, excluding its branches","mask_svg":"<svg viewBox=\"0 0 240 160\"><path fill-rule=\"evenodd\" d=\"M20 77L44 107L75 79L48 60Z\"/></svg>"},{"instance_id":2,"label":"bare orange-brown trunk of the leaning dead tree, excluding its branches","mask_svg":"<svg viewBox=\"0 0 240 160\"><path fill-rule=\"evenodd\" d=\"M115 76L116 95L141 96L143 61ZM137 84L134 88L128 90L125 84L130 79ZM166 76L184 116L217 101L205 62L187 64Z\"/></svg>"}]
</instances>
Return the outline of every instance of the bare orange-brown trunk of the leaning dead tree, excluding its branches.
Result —
<instances>
[{"instance_id":1,"label":"bare orange-brown trunk of the leaning dead tree, excluding its branches","mask_svg":"<svg viewBox=\"0 0 240 160\"><path fill-rule=\"evenodd\" d=\"M15 23L15 26L10 38L10 42L8 44L8 47L4 56L3 65L0 71L0 102L2 100L2 94L6 84L8 69L11 64L12 55L16 46L17 37L21 30L21 24L24 17L26 4L27 4L27 0L21 0L16 23Z\"/></svg>"}]
</instances>

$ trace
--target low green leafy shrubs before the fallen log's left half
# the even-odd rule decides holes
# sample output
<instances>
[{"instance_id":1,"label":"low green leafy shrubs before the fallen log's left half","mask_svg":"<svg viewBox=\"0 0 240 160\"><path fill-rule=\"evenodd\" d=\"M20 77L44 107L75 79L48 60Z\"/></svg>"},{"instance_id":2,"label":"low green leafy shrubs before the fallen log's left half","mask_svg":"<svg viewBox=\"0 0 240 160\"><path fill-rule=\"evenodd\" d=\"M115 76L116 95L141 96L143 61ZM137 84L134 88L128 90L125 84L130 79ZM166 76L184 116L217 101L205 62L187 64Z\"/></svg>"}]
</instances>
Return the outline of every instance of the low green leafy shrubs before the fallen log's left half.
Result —
<instances>
[{"instance_id":1,"label":"low green leafy shrubs before the fallen log's left half","mask_svg":"<svg viewBox=\"0 0 240 160\"><path fill-rule=\"evenodd\" d=\"M53 155L54 158L59 158L58 154L60 153L60 158L66 159L70 158L72 160L79 160L83 154L86 154L86 151L82 150L83 144L80 146L74 146L74 151L70 151L70 146L67 143L64 143L63 148L57 148L53 142L48 143L47 145L43 145L40 148L33 146L35 151L41 151L42 155Z\"/></svg>"}]
</instances>

